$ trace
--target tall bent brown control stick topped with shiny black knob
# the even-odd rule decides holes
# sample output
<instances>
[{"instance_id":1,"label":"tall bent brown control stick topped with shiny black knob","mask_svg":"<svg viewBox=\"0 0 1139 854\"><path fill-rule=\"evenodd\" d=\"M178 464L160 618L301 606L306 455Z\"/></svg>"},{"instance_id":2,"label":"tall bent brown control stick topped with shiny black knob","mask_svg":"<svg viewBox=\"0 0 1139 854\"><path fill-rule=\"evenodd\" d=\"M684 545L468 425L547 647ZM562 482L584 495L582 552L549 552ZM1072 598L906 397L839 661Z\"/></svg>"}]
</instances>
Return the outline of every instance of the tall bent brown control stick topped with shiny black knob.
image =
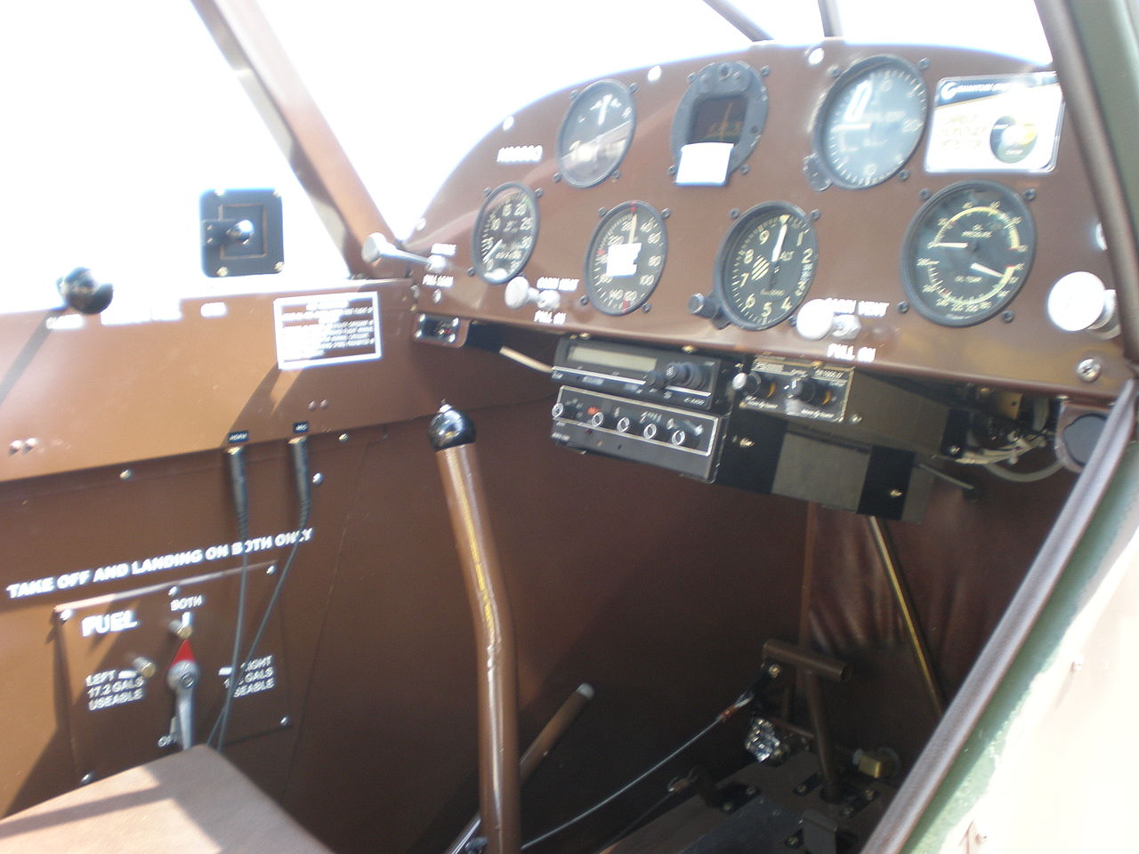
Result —
<instances>
[{"instance_id":1,"label":"tall bent brown control stick topped with shiny black knob","mask_svg":"<svg viewBox=\"0 0 1139 854\"><path fill-rule=\"evenodd\" d=\"M514 623L486 518L475 427L445 403L428 430L443 478L478 656L478 806L489 854L518 854L518 673Z\"/></svg>"}]
</instances>

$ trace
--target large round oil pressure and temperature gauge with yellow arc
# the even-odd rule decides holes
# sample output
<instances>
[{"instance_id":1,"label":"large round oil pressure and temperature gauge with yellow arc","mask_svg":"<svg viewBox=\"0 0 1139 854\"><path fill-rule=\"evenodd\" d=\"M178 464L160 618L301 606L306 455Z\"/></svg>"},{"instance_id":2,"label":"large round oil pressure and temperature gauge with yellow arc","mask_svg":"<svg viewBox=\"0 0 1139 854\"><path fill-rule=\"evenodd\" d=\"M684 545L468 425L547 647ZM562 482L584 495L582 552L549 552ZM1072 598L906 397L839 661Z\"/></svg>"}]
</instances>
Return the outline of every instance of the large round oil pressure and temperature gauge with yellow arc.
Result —
<instances>
[{"instance_id":1,"label":"large round oil pressure and temperature gauge with yellow arc","mask_svg":"<svg viewBox=\"0 0 1139 854\"><path fill-rule=\"evenodd\" d=\"M1011 302L1035 251L1032 215L992 181L962 181L934 195L910 223L902 285L911 304L942 326L970 326Z\"/></svg>"}]
</instances>

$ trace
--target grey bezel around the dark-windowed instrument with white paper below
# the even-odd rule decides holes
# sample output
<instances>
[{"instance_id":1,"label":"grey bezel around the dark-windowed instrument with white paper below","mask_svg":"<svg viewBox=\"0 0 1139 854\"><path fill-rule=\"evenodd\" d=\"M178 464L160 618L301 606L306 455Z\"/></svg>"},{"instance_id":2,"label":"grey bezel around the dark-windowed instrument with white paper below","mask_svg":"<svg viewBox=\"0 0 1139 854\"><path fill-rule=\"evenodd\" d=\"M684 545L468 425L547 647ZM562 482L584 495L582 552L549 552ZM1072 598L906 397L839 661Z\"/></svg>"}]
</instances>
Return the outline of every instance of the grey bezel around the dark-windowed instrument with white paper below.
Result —
<instances>
[{"instance_id":1,"label":"grey bezel around the dark-windowed instrument with white paper below","mask_svg":"<svg viewBox=\"0 0 1139 854\"><path fill-rule=\"evenodd\" d=\"M669 143L672 147L673 164L680 165L680 149L690 141L699 106L706 100L737 95L746 99L746 106L739 140L731 145L727 174L730 175L744 165L759 145L768 122L768 87L755 68L740 61L711 63L693 75L672 117Z\"/></svg>"}]
</instances>

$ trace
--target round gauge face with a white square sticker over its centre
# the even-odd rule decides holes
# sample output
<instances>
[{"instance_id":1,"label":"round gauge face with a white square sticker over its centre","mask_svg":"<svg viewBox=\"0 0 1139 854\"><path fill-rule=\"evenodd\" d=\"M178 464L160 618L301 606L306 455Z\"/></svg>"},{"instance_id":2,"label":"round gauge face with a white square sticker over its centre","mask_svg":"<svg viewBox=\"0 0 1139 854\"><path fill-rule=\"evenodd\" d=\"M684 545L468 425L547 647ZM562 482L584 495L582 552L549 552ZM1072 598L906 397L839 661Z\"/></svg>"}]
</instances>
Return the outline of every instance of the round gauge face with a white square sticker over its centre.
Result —
<instances>
[{"instance_id":1,"label":"round gauge face with a white square sticker over its centre","mask_svg":"<svg viewBox=\"0 0 1139 854\"><path fill-rule=\"evenodd\" d=\"M648 299L664 270L664 217L644 202L625 202L597 224L585 253L585 293L606 314L629 314Z\"/></svg>"}]
</instances>

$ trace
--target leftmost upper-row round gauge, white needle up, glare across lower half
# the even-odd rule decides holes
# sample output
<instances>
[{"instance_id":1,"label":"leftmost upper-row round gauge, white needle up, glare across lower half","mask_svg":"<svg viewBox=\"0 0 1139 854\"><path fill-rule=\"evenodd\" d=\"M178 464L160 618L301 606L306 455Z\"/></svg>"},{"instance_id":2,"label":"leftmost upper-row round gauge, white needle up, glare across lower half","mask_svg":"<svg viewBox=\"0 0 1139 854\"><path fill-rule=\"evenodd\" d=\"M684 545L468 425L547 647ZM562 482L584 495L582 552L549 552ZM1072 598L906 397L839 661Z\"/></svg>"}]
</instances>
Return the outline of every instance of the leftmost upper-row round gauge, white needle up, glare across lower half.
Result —
<instances>
[{"instance_id":1,"label":"leftmost upper-row round gauge, white needle up, glare across lower half","mask_svg":"<svg viewBox=\"0 0 1139 854\"><path fill-rule=\"evenodd\" d=\"M601 80L570 105L558 131L558 170L573 187L592 187L621 165L637 124L633 97L624 84Z\"/></svg>"}]
</instances>

